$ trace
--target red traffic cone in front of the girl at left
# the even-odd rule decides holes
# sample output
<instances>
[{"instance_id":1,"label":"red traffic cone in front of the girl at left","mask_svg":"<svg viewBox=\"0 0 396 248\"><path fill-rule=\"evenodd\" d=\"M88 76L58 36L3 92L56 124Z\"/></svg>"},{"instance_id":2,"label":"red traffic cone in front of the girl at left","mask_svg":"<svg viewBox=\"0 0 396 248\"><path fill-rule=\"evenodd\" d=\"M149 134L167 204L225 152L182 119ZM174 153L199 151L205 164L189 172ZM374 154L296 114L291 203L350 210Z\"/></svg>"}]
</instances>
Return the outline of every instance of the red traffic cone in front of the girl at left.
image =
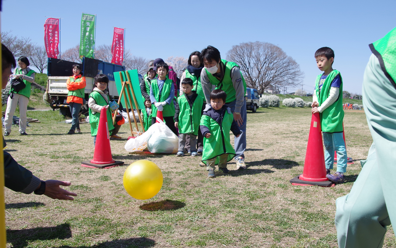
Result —
<instances>
[{"instance_id":1,"label":"red traffic cone in front of the girl at left","mask_svg":"<svg viewBox=\"0 0 396 248\"><path fill-rule=\"evenodd\" d=\"M91 168L110 168L123 164L124 162L122 161L114 161L111 156L109 128L107 126L107 109L103 107L100 112L93 159L81 162L81 166Z\"/></svg>"}]
</instances>

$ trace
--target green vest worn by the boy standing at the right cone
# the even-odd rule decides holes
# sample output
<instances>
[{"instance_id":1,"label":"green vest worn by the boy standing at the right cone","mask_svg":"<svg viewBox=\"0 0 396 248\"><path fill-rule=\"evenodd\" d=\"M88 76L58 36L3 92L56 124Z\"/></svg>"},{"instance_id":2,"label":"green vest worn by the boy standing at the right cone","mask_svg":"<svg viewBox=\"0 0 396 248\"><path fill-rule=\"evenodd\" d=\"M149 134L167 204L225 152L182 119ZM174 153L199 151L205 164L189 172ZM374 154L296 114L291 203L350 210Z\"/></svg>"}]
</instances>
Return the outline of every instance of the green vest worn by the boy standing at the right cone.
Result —
<instances>
[{"instance_id":1,"label":"green vest worn by the boy standing at the right cone","mask_svg":"<svg viewBox=\"0 0 396 248\"><path fill-rule=\"evenodd\" d=\"M329 97L330 95L330 88L331 88L331 83L333 83L333 80L337 75L340 75L341 79L341 85L340 85L340 93L335 102L328 106L325 110L323 110L322 113L320 113L320 125L322 127L322 132L324 133L341 133L344 131L343 129L343 119L344 119L344 110L343 110L343 79L341 77L341 74L337 70L331 71L329 75L327 75L326 80L323 83L322 89L319 92L319 81L320 77L322 77L323 74L318 75L316 77L316 82L315 82L315 90L316 90L316 96L319 101L319 106L323 104L324 101Z\"/></svg>"}]
</instances>

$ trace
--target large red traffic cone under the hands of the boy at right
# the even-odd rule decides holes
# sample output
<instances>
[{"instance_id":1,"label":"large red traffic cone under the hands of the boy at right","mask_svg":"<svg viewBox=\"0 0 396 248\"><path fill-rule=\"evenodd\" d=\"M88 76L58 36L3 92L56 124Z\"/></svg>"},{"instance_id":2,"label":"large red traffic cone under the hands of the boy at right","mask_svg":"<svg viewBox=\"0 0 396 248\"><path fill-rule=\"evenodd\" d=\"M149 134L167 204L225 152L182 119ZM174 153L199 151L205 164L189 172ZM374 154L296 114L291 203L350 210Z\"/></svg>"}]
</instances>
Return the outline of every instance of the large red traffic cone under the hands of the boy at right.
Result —
<instances>
[{"instance_id":1,"label":"large red traffic cone under the hands of the boy at right","mask_svg":"<svg viewBox=\"0 0 396 248\"><path fill-rule=\"evenodd\" d=\"M331 186L333 184L326 177L319 113L312 115L303 174L291 179L290 183L292 185L320 186Z\"/></svg>"}]
</instances>

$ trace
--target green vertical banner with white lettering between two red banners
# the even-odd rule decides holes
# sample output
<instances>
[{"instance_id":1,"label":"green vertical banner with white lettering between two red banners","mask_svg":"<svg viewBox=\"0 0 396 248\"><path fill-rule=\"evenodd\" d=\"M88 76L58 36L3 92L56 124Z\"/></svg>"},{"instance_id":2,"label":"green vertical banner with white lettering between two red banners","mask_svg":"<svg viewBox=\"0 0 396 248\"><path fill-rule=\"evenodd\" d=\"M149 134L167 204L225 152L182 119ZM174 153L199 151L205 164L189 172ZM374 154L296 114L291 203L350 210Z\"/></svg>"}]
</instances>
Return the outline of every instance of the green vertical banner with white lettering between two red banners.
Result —
<instances>
[{"instance_id":1,"label":"green vertical banner with white lettering between two red banners","mask_svg":"<svg viewBox=\"0 0 396 248\"><path fill-rule=\"evenodd\" d=\"M81 17L81 39L80 58L95 58L95 17L82 13Z\"/></svg>"}]
</instances>

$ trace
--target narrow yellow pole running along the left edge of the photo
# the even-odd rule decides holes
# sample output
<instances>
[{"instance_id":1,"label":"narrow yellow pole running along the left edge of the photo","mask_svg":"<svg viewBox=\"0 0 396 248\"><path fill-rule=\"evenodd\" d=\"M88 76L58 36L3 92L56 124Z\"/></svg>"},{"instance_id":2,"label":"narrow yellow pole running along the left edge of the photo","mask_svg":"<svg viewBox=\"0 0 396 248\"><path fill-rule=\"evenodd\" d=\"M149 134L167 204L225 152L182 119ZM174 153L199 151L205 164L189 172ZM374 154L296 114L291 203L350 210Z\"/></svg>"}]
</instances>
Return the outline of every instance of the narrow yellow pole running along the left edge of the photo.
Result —
<instances>
[{"instance_id":1,"label":"narrow yellow pole running along the left edge of the photo","mask_svg":"<svg viewBox=\"0 0 396 248\"><path fill-rule=\"evenodd\" d=\"M1 20L1 15L0 15ZM1 21L0 21L1 27ZM1 58L1 49L0 49L0 58ZM0 81L2 81L2 59L0 59ZM2 109L2 102L0 101L0 109ZM0 127L0 133L3 133L2 127ZM2 149L3 150L3 149ZM4 202L4 158L3 153L0 152L0 248L6 248L6 204Z\"/></svg>"}]
</instances>

